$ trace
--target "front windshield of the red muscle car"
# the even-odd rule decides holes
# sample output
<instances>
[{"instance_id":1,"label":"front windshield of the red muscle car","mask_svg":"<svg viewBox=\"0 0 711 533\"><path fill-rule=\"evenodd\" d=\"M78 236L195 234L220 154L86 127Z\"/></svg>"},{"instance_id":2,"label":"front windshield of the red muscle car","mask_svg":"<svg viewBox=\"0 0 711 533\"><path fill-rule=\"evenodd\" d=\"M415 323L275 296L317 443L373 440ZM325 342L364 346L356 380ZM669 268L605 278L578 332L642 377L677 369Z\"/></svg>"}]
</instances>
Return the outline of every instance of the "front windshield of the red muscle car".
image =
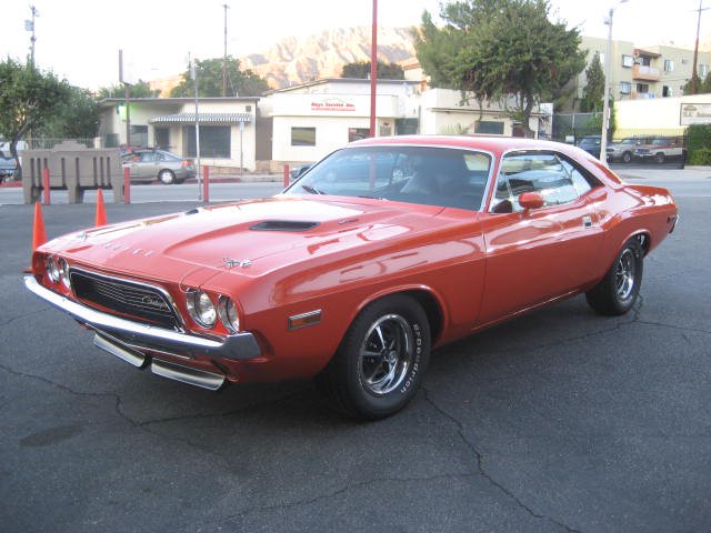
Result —
<instances>
[{"instance_id":1,"label":"front windshield of the red muscle car","mask_svg":"<svg viewBox=\"0 0 711 533\"><path fill-rule=\"evenodd\" d=\"M334 194L478 211L487 153L431 147L353 147L311 168L284 194Z\"/></svg>"}]
</instances>

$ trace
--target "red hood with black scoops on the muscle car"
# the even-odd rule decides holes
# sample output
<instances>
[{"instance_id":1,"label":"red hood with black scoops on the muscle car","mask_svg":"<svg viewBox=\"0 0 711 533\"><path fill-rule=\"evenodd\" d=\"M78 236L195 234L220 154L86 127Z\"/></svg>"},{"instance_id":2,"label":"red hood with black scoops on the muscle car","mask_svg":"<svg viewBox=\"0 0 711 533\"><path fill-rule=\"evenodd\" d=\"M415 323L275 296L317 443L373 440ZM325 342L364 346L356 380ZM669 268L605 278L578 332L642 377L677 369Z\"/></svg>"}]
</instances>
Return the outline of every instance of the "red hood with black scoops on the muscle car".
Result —
<instances>
[{"instance_id":1,"label":"red hood with black scoops on the muscle car","mask_svg":"<svg viewBox=\"0 0 711 533\"><path fill-rule=\"evenodd\" d=\"M73 233L44 248L113 272L200 283L431 230L443 208L372 199L274 197ZM249 266L249 268L247 268Z\"/></svg>"}]
</instances>

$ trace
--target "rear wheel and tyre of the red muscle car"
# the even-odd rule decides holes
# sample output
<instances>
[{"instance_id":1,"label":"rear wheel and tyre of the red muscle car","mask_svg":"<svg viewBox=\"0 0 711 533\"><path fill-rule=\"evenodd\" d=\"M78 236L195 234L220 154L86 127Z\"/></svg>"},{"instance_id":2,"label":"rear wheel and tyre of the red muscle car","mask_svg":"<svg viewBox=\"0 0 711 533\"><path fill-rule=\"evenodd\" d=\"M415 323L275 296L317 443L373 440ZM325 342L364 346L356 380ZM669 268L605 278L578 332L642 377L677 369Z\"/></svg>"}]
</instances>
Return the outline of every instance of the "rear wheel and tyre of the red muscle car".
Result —
<instances>
[{"instance_id":1,"label":"rear wheel and tyre of the red muscle car","mask_svg":"<svg viewBox=\"0 0 711 533\"><path fill-rule=\"evenodd\" d=\"M643 257L637 238L627 241L602 281L585 293L590 306L607 315L624 314L632 309L642 284Z\"/></svg>"}]
</instances>

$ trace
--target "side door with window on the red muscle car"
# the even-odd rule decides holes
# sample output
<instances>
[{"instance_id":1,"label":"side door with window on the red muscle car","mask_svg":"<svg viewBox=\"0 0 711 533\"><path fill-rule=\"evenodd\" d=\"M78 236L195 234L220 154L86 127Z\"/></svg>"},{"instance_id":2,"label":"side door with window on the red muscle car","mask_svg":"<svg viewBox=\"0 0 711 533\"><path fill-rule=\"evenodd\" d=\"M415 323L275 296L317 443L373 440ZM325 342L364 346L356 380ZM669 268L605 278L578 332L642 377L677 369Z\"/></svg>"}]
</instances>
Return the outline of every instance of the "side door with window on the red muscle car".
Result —
<instances>
[{"instance_id":1,"label":"side door with window on the red muscle car","mask_svg":"<svg viewBox=\"0 0 711 533\"><path fill-rule=\"evenodd\" d=\"M482 213L487 253L480 323L489 323L567 294L594 279L602 249L599 182L553 152L512 152L499 165ZM522 209L524 192L544 204Z\"/></svg>"}]
</instances>

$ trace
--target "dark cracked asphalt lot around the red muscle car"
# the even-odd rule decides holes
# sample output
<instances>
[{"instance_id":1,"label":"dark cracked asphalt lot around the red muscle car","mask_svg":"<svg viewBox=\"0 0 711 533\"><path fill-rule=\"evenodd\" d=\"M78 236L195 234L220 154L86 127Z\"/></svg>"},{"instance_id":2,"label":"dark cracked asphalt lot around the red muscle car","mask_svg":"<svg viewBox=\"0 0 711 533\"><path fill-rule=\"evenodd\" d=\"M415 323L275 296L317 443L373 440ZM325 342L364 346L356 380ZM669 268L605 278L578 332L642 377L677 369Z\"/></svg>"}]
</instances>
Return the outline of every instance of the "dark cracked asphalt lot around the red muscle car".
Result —
<instances>
[{"instance_id":1,"label":"dark cracked asphalt lot around the red muscle car","mask_svg":"<svg viewBox=\"0 0 711 533\"><path fill-rule=\"evenodd\" d=\"M711 180L671 184L631 313L579 296L441 349L377 423L308 382L210 393L100 352L23 288L32 208L1 207L0 530L711 531ZM46 207L48 235L93 209Z\"/></svg>"}]
</instances>

